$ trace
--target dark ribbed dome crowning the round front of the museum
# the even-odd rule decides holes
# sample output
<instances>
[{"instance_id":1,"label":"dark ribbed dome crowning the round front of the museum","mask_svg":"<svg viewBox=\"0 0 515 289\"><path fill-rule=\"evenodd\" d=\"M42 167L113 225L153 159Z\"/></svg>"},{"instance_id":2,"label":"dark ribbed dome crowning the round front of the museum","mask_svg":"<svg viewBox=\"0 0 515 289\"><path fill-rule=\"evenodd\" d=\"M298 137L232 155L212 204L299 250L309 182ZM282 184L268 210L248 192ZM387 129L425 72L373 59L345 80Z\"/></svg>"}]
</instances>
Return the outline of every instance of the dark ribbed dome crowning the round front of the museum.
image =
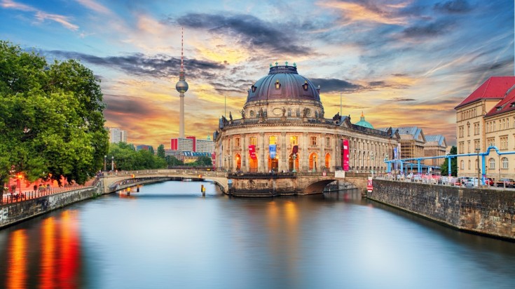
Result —
<instances>
[{"instance_id":1,"label":"dark ribbed dome crowning the round front of the museum","mask_svg":"<svg viewBox=\"0 0 515 289\"><path fill-rule=\"evenodd\" d=\"M320 102L320 86L297 73L297 67L270 65L270 72L254 83L247 95L248 102L268 100L314 100Z\"/></svg>"}]
</instances>

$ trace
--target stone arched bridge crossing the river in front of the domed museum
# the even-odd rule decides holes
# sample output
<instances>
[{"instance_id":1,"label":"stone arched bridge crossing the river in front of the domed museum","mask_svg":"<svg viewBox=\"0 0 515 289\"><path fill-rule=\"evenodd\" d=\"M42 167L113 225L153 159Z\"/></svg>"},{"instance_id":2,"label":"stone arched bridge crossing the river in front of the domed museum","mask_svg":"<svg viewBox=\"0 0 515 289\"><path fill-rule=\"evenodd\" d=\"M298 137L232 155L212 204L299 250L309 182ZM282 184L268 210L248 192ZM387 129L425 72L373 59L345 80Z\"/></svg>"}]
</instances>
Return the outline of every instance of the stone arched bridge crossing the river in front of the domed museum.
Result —
<instances>
[{"instance_id":1,"label":"stone arched bridge crossing the river in front of the domed museum","mask_svg":"<svg viewBox=\"0 0 515 289\"><path fill-rule=\"evenodd\" d=\"M334 173L226 173L196 169L134 170L104 173L104 193L111 193L139 184L168 180L207 180L217 184L224 194L232 196L284 196L320 194L331 182L351 183L353 187L366 188L366 173L346 173L336 178Z\"/></svg>"}]
</instances>

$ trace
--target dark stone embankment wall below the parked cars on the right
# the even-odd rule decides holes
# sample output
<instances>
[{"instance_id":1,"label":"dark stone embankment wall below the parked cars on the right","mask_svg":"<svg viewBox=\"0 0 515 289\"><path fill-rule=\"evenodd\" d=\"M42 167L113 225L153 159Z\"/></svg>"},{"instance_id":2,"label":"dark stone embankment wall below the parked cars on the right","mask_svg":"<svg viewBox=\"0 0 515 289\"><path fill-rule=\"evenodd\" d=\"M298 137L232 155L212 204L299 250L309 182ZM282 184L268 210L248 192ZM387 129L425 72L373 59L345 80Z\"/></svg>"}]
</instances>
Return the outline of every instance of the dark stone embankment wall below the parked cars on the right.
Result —
<instances>
[{"instance_id":1,"label":"dark stone embankment wall below the parked cars on the right","mask_svg":"<svg viewBox=\"0 0 515 289\"><path fill-rule=\"evenodd\" d=\"M515 191L375 179L366 196L455 229L515 241Z\"/></svg>"}]
</instances>

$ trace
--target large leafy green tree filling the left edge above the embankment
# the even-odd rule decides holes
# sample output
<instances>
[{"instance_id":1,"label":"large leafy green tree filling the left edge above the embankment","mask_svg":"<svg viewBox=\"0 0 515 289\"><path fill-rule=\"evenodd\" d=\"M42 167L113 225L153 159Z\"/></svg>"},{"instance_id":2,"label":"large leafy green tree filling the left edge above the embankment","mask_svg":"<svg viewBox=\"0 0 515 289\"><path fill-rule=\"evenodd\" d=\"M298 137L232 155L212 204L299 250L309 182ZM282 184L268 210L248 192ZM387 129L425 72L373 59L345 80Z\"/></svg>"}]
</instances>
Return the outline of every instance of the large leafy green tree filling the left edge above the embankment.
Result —
<instances>
[{"instance_id":1,"label":"large leafy green tree filling the left edge above the embankment","mask_svg":"<svg viewBox=\"0 0 515 289\"><path fill-rule=\"evenodd\" d=\"M0 41L0 179L49 174L83 183L107 153L103 95L76 60L47 63Z\"/></svg>"}]
</instances>

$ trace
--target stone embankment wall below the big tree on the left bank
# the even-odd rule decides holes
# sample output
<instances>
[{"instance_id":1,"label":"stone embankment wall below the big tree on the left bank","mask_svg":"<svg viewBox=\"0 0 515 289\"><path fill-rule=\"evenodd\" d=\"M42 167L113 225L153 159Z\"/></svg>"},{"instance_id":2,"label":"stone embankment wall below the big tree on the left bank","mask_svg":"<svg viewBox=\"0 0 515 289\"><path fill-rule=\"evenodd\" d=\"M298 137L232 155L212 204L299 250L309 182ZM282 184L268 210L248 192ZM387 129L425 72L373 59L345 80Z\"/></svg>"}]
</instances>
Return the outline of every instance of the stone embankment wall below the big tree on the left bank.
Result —
<instances>
[{"instance_id":1,"label":"stone embankment wall below the big tree on the left bank","mask_svg":"<svg viewBox=\"0 0 515 289\"><path fill-rule=\"evenodd\" d=\"M91 199L99 194L102 194L101 184L96 187L64 191L37 199L4 204L0 206L0 229L48 213L51 210L63 208L71 203Z\"/></svg>"}]
</instances>

